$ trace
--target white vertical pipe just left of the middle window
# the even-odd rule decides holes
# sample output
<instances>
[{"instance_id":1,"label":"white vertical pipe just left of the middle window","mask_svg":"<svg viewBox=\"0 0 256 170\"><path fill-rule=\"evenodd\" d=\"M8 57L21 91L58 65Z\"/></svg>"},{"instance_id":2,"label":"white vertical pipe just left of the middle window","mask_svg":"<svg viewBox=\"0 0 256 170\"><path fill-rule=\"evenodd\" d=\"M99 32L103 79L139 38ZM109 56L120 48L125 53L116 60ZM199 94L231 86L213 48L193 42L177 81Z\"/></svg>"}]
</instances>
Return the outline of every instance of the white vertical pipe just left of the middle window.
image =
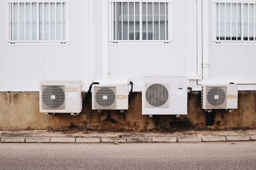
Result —
<instances>
[{"instance_id":1,"label":"white vertical pipe just left of the middle window","mask_svg":"<svg viewBox=\"0 0 256 170\"><path fill-rule=\"evenodd\" d=\"M108 68L108 1L102 0L102 78L109 78Z\"/></svg>"}]
</instances>

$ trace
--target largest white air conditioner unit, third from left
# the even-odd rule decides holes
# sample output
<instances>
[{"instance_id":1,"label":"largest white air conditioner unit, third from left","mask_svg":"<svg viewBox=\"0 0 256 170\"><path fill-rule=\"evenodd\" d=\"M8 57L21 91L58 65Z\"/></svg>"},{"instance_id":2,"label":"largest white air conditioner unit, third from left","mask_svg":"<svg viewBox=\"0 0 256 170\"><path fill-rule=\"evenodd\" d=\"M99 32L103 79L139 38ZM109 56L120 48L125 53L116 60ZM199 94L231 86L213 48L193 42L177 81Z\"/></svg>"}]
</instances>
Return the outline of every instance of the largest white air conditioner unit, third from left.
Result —
<instances>
[{"instance_id":1,"label":"largest white air conditioner unit, third from left","mask_svg":"<svg viewBox=\"0 0 256 170\"><path fill-rule=\"evenodd\" d=\"M142 115L187 115L186 77L144 77Z\"/></svg>"}]
</instances>

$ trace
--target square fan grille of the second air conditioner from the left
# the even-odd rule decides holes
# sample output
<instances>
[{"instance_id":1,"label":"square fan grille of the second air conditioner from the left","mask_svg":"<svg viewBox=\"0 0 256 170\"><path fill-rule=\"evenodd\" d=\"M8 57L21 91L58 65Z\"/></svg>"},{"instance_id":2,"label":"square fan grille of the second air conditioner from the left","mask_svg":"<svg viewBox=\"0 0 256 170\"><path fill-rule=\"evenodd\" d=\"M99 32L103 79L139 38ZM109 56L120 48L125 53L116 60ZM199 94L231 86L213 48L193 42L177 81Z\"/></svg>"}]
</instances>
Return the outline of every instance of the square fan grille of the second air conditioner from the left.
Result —
<instances>
[{"instance_id":1,"label":"square fan grille of the second air conditioner from the left","mask_svg":"<svg viewBox=\"0 0 256 170\"><path fill-rule=\"evenodd\" d=\"M95 108L115 109L116 108L116 87L94 87Z\"/></svg>"}]
</instances>

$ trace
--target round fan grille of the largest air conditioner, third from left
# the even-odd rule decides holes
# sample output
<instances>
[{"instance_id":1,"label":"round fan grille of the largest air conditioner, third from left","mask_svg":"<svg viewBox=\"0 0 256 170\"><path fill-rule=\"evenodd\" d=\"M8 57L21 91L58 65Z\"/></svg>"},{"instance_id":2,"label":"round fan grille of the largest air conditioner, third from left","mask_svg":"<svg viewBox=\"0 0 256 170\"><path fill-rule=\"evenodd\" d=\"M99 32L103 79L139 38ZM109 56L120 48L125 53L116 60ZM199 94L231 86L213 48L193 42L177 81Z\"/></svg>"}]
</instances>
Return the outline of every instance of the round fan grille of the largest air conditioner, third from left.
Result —
<instances>
[{"instance_id":1,"label":"round fan grille of the largest air conditioner, third from left","mask_svg":"<svg viewBox=\"0 0 256 170\"><path fill-rule=\"evenodd\" d=\"M146 107L168 108L168 84L146 84Z\"/></svg>"}]
</instances>

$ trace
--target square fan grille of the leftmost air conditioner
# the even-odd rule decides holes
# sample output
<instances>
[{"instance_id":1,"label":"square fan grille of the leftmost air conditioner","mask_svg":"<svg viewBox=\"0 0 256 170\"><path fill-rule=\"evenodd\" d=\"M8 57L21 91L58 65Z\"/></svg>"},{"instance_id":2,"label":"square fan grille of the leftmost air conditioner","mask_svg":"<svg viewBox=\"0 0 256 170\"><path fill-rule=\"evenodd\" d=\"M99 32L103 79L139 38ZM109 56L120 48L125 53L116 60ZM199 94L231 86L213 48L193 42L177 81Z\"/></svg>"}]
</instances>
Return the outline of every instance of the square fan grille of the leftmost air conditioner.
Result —
<instances>
[{"instance_id":1,"label":"square fan grille of the leftmost air conditioner","mask_svg":"<svg viewBox=\"0 0 256 170\"><path fill-rule=\"evenodd\" d=\"M65 86L42 85L42 108L65 109Z\"/></svg>"}]
</instances>

